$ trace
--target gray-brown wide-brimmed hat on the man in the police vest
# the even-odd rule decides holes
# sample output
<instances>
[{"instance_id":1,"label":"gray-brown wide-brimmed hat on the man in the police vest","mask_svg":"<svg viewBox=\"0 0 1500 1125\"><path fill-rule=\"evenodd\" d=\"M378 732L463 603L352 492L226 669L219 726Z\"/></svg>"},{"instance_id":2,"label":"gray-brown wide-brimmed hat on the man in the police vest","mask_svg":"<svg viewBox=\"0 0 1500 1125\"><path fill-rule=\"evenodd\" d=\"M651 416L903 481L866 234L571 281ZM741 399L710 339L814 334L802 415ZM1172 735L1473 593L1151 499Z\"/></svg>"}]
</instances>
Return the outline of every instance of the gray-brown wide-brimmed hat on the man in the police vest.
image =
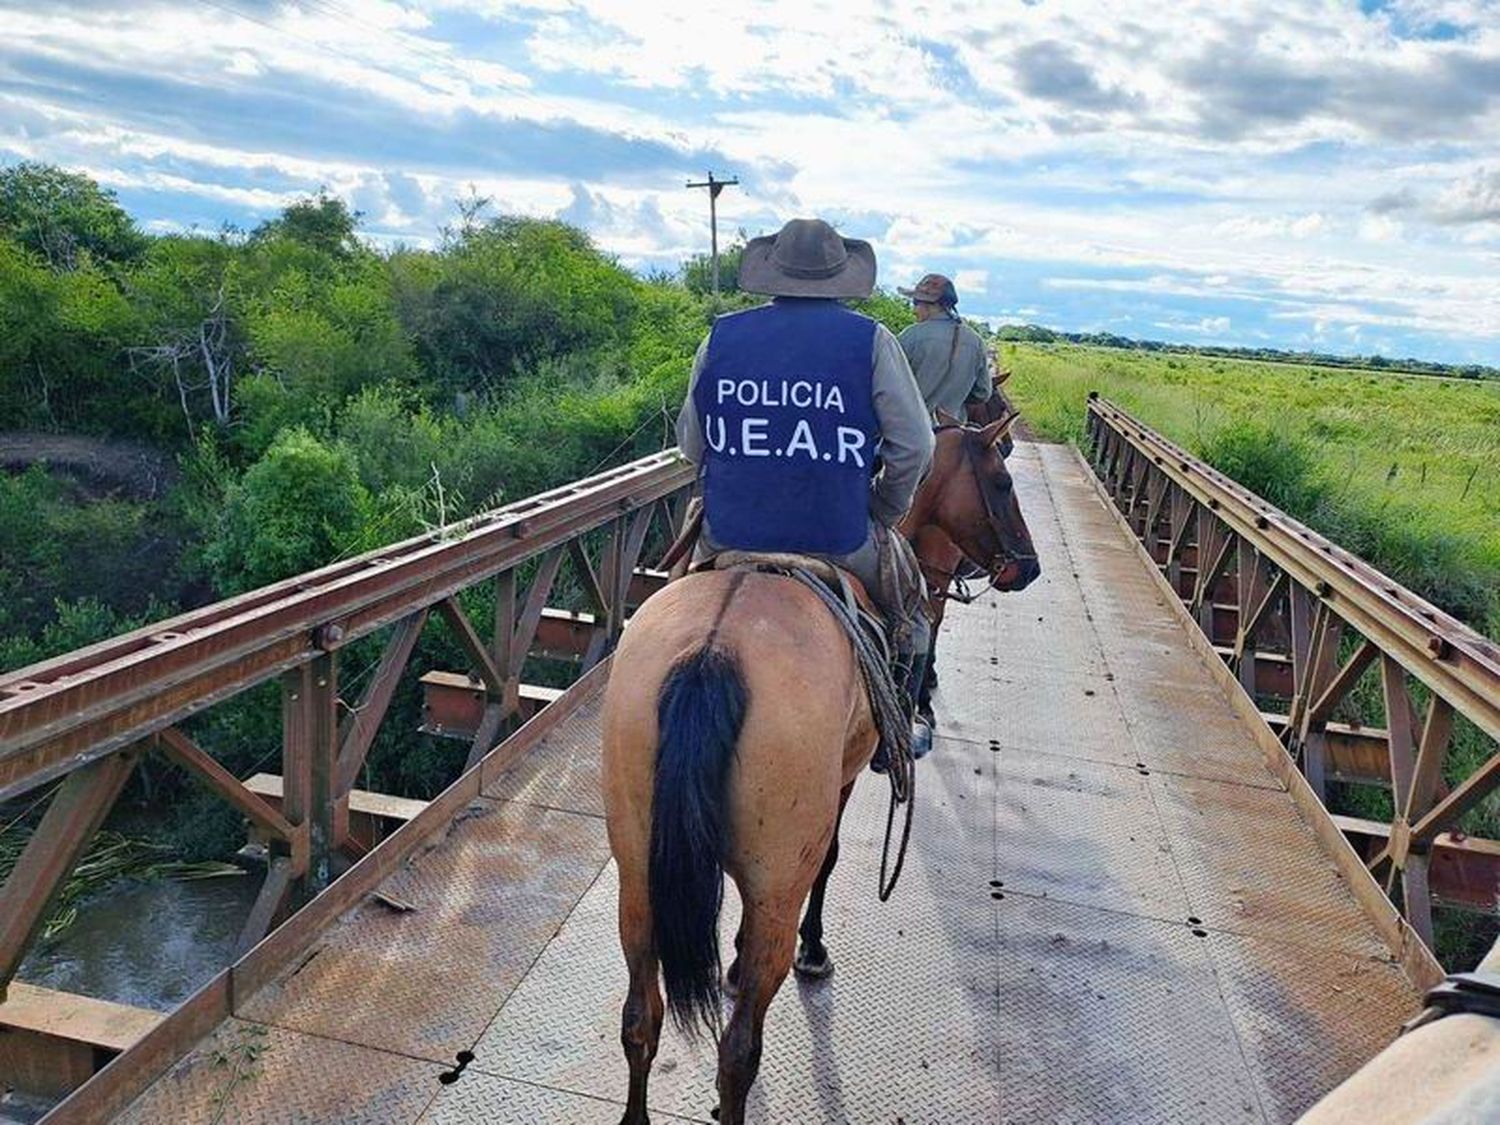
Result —
<instances>
[{"instance_id":1,"label":"gray-brown wide-brimmed hat on the man in the police vest","mask_svg":"<svg viewBox=\"0 0 1500 1125\"><path fill-rule=\"evenodd\" d=\"M752 238L740 258L740 288L770 297L868 297L874 250L843 238L822 219L792 219Z\"/></svg>"}]
</instances>

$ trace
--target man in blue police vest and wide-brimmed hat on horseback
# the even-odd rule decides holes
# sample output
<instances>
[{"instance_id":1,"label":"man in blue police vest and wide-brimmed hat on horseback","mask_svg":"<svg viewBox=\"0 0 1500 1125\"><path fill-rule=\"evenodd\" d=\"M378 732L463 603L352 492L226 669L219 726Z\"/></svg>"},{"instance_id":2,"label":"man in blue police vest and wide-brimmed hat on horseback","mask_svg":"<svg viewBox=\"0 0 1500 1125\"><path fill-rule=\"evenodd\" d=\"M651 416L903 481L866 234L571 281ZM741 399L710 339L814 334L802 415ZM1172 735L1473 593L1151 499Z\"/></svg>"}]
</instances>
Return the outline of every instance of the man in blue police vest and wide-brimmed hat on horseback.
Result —
<instances>
[{"instance_id":1,"label":"man in blue police vest and wide-brimmed hat on horseback","mask_svg":"<svg viewBox=\"0 0 1500 1125\"><path fill-rule=\"evenodd\" d=\"M921 669L921 578L894 526L933 454L900 344L840 300L874 290L874 250L820 219L752 238L740 288L772 300L714 321L676 420L704 476L700 550L818 555L858 578ZM915 693L914 693L915 694ZM918 724L914 752L932 746Z\"/></svg>"}]
</instances>

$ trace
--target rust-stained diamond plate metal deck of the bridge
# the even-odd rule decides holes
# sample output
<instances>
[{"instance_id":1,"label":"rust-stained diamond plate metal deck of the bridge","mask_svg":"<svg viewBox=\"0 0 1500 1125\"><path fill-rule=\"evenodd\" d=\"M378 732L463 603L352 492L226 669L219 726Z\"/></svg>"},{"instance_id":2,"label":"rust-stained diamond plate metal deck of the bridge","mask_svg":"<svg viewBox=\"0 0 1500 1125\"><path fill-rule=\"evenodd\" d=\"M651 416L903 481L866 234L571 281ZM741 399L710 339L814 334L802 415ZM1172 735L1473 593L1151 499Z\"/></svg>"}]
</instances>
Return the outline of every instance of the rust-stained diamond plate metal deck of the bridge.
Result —
<instances>
[{"instance_id":1,"label":"rust-stained diamond plate metal deck of the bridge","mask_svg":"<svg viewBox=\"0 0 1500 1125\"><path fill-rule=\"evenodd\" d=\"M902 885L876 902L866 777L825 912L838 970L777 996L752 1120L1290 1120L1416 992L1074 454L1023 442L1014 476L1044 578L950 608ZM350 910L124 1119L618 1120L600 813L596 700L387 880L414 912ZM736 914L730 892L726 942ZM711 1122L712 1074L664 1032L654 1119Z\"/></svg>"}]
</instances>

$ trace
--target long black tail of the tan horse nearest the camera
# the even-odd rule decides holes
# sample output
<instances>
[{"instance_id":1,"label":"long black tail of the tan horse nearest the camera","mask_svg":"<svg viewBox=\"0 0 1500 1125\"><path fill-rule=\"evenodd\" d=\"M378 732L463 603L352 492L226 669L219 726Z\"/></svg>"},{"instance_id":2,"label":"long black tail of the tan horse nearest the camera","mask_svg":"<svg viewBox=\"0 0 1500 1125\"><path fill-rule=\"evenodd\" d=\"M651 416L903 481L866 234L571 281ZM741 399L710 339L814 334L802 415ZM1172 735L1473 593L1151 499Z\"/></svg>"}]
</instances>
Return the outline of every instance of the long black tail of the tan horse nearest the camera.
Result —
<instances>
[{"instance_id":1,"label":"long black tail of the tan horse nearest the camera","mask_svg":"<svg viewBox=\"0 0 1500 1125\"><path fill-rule=\"evenodd\" d=\"M680 1029L718 1029L718 909L729 850L729 770L746 716L734 656L705 646L680 660L657 696L651 804L651 926Z\"/></svg>"}]
</instances>

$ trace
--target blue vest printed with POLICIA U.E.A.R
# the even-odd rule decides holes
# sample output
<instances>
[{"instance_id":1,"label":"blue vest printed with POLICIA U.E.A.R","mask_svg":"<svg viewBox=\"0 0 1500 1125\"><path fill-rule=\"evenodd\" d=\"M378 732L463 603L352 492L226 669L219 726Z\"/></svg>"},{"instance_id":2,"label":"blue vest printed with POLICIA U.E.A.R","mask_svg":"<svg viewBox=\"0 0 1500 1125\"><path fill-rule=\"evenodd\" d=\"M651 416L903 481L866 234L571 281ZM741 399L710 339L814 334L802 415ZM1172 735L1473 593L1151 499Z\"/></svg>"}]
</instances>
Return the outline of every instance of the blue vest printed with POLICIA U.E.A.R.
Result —
<instances>
[{"instance_id":1,"label":"blue vest printed with POLICIA U.E.A.R","mask_svg":"<svg viewBox=\"0 0 1500 1125\"><path fill-rule=\"evenodd\" d=\"M831 300L720 316L693 390L704 514L740 550L846 555L870 530L874 321Z\"/></svg>"}]
</instances>

